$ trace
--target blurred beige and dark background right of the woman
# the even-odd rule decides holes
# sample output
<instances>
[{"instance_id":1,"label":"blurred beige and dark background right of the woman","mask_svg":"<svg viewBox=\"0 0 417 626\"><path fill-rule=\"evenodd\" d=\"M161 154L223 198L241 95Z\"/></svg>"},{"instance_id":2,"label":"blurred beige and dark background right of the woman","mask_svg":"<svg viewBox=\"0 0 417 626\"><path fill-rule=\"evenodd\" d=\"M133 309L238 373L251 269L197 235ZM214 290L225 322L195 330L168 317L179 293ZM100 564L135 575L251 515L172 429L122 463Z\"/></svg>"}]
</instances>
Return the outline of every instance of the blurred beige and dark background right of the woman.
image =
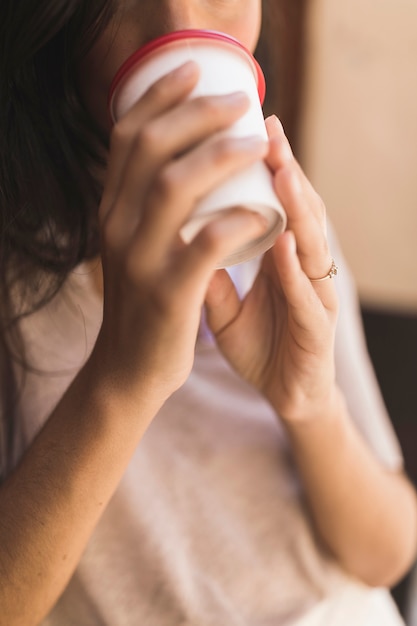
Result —
<instances>
[{"instance_id":1,"label":"blurred beige and dark background right of the woman","mask_svg":"<svg viewBox=\"0 0 417 626\"><path fill-rule=\"evenodd\" d=\"M282 4L284 126L355 276L371 358L417 484L417 2ZM417 626L417 575L392 591Z\"/></svg>"}]
</instances>

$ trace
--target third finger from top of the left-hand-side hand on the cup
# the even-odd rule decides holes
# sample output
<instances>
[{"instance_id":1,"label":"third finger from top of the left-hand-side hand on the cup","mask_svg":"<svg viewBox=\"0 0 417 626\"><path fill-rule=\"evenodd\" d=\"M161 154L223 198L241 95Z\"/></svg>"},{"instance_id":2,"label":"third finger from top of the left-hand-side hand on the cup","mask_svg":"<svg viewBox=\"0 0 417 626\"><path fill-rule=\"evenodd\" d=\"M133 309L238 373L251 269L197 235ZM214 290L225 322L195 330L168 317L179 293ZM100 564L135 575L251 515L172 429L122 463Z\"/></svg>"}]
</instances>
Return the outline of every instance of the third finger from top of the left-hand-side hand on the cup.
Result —
<instances>
[{"instance_id":1,"label":"third finger from top of the left-hand-side hand on the cup","mask_svg":"<svg viewBox=\"0 0 417 626\"><path fill-rule=\"evenodd\" d=\"M267 149L259 137L221 138L201 144L167 166L147 199L147 211L134 243L138 255L146 251L155 263L163 259L199 199L262 159Z\"/></svg>"}]
</instances>

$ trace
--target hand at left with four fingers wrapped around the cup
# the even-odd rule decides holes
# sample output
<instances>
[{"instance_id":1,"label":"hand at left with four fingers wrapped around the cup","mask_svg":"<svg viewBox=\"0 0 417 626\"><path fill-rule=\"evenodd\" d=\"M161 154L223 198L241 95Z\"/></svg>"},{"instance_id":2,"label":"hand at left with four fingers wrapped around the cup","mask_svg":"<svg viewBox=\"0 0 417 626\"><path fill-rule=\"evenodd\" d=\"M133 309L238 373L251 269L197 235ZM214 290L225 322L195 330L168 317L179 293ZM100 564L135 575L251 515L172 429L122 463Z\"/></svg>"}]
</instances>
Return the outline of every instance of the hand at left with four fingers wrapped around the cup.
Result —
<instances>
[{"instance_id":1,"label":"hand at left with four fingers wrapped around the cup","mask_svg":"<svg viewBox=\"0 0 417 626\"><path fill-rule=\"evenodd\" d=\"M134 398L145 384L161 404L191 370L216 262L264 228L254 214L235 211L188 245L180 240L198 199L268 152L259 139L213 138L248 101L242 94L188 99L197 80L188 62L115 124L99 208L104 316L94 365L118 394Z\"/></svg>"}]
</instances>

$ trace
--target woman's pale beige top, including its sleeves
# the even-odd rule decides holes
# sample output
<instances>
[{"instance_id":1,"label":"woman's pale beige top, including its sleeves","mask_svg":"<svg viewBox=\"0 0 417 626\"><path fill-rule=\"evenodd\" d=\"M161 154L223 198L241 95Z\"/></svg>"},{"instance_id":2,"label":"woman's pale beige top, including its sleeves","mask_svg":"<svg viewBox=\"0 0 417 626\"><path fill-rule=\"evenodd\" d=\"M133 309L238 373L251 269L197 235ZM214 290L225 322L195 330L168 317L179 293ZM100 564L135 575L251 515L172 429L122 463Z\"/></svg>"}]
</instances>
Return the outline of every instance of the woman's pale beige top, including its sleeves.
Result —
<instances>
[{"instance_id":1,"label":"woman's pale beige top, including its sleeves","mask_svg":"<svg viewBox=\"0 0 417 626\"><path fill-rule=\"evenodd\" d=\"M377 456L398 468L335 246L339 382ZM256 263L232 271L242 291L255 271ZM100 322L83 268L25 321L28 355L45 370L27 377L19 415L26 445L87 358ZM151 424L43 626L289 626L349 584L313 535L279 419L202 326L188 381Z\"/></svg>"}]
</instances>

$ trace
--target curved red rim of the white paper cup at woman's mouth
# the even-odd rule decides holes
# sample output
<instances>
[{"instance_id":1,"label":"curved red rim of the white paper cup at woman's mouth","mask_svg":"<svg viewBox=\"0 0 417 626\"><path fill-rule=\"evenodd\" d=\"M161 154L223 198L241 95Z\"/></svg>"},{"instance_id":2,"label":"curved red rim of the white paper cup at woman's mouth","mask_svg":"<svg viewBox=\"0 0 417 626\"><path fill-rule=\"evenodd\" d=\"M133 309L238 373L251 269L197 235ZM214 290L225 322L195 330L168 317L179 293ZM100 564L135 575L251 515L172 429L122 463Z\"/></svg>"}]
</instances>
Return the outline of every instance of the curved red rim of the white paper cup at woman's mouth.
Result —
<instances>
[{"instance_id":1,"label":"curved red rim of the white paper cup at woman's mouth","mask_svg":"<svg viewBox=\"0 0 417 626\"><path fill-rule=\"evenodd\" d=\"M158 48L164 46L165 44L175 43L183 39L210 39L213 41L219 41L220 43L232 45L243 51L251 61L252 66L255 70L259 100L261 102L261 105L264 103L266 83L262 68L253 56L253 54L238 39L235 39L231 35L227 35L226 33L222 33L216 30L187 29L173 31L171 33L167 33L165 35L157 37L156 39L152 39L150 42L136 50L136 52L133 52L133 54L131 54L126 59L126 61L122 63L110 84L108 95L109 110L111 108L111 103L117 87L119 86L121 81L127 76L132 67L138 63L138 61L143 60L149 54L155 52L155 50L158 50Z\"/></svg>"}]
</instances>

